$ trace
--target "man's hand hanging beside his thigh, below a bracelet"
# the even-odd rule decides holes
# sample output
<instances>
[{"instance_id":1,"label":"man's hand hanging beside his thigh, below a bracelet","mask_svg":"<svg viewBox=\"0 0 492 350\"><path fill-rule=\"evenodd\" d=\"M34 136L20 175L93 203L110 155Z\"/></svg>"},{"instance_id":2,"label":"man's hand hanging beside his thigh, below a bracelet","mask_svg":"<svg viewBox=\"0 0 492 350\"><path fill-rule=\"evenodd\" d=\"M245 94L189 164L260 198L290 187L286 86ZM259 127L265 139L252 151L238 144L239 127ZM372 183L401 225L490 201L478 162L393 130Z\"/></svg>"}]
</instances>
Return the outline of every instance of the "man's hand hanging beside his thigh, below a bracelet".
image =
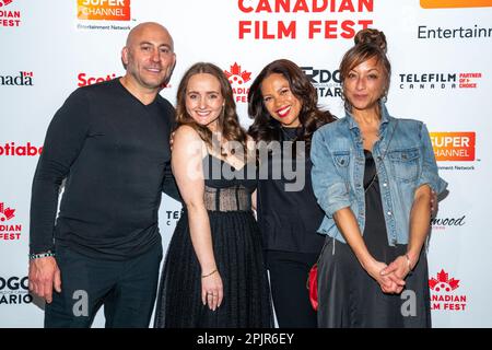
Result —
<instances>
[{"instance_id":1,"label":"man's hand hanging beside his thigh, below a bracelet","mask_svg":"<svg viewBox=\"0 0 492 350\"><path fill-rule=\"evenodd\" d=\"M52 301L52 288L61 292L61 275L52 256L30 261L30 291L43 298L48 304Z\"/></svg>"}]
</instances>

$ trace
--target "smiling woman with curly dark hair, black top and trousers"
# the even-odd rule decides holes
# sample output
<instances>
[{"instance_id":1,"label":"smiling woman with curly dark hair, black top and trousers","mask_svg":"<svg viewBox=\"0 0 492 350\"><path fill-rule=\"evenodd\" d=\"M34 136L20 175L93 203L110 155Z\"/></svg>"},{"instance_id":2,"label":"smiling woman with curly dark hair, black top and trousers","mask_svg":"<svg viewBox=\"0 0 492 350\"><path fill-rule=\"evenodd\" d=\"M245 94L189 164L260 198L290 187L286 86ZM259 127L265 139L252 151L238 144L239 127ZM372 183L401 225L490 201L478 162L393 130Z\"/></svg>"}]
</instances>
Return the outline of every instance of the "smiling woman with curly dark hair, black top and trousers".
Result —
<instances>
[{"instance_id":1,"label":"smiling woman with curly dark hair, black top and trousers","mask_svg":"<svg viewBox=\"0 0 492 350\"><path fill-rule=\"evenodd\" d=\"M248 132L266 154L259 159L257 218L280 327L317 326L306 280L324 244L316 232L324 212L313 194L308 154L313 132L333 120L329 112L318 109L317 101L307 77L286 59L267 65L248 95L254 118ZM263 153L261 143L271 151ZM285 168L295 171L295 177Z\"/></svg>"}]
</instances>

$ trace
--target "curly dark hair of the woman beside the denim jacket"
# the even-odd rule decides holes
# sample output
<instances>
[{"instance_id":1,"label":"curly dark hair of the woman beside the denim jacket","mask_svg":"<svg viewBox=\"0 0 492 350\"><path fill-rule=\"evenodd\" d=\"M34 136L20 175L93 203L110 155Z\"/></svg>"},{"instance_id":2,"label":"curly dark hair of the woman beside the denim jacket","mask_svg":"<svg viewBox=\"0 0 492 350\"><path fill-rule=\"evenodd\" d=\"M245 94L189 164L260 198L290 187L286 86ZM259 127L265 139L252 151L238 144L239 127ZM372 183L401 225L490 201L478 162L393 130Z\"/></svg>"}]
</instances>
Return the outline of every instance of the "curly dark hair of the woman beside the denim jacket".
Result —
<instances>
[{"instance_id":1,"label":"curly dark hair of the woman beside the denim jacket","mask_svg":"<svg viewBox=\"0 0 492 350\"><path fill-rule=\"evenodd\" d=\"M281 126L267 110L261 95L261 83L270 74L282 74L288 81L294 96L302 102L298 116L301 130L295 141L306 142L306 151L311 149L313 133L323 125L336 118L328 112L318 108L318 94L306 74L294 62L279 59L267 65L256 77L248 93L248 114L254 119L248 133L255 141L280 141Z\"/></svg>"}]
</instances>

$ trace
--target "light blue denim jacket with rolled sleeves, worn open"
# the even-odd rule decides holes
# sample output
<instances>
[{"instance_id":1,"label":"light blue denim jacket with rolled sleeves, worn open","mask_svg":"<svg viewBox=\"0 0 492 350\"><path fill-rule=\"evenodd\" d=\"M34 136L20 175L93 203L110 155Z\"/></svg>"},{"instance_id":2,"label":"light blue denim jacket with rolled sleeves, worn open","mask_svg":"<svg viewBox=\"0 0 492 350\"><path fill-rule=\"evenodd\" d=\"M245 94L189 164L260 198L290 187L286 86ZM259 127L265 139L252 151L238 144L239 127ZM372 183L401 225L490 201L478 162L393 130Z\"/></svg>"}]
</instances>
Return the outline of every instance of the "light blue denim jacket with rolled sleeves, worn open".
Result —
<instances>
[{"instance_id":1,"label":"light blue denim jacket with rolled sleeves, worn open","mask_svg":"<svg viewBox=\"0 0 492 350\"><path fill-rule=\"evenodd\" d=\"M408 244L414 191L423 184L437 194L447 187L437 174L429 131L421 121L389 116L382 104L379 140L372 152L388 243L390 246ZM352 115L347 113L344 118L325 125L314 133L311 158L313 189L325 211L318 232L344 243L333 213L350 207L363 233L365 158L361 131Z\"/></svg>"}]
</instances>

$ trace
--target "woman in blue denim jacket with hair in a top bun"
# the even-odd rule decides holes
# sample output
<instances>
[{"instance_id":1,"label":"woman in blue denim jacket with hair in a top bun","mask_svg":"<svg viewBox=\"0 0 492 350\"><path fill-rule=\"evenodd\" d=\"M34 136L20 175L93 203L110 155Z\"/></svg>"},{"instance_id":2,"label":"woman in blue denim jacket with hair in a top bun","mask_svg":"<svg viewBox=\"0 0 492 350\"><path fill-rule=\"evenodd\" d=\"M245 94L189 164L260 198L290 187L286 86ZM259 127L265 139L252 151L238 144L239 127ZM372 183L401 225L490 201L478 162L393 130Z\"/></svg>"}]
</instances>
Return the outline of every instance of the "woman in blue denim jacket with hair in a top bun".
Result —
<instances>
[{"instance_id":1,"label":"woman in blue denim jacket with hair in a top bun","mask_svg":"<svg viewBox=\"0 0 492 350\"><path fill-rule=\"evenodd\" d=\"M347 115L313 137L313 188L326 215L319 327L430 327L425 238L437 174L421 121L384 104L386 38L363 30L340 63Z\"/></svg>"}]
</instances>

